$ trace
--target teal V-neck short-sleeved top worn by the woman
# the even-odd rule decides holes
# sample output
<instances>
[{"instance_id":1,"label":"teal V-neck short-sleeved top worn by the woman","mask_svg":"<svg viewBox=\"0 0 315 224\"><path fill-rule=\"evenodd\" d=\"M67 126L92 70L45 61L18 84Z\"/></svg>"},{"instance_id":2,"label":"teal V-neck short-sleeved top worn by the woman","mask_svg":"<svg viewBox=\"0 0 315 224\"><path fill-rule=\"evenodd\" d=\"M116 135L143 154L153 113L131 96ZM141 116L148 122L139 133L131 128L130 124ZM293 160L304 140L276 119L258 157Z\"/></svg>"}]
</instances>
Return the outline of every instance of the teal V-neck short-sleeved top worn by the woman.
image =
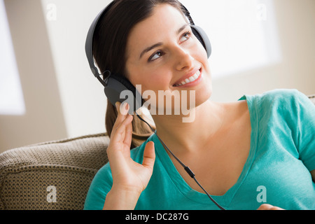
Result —
<instances>
[{"instance_id":1,"label":"teal V-neck short-sleeved top worn by the woman","mask_svg":"<svg viewBox=\"0 0 315 224\"><path fill-rule=\"evenodd\" d=\"M237 183L225 195L213 196L225 209L258 209L272 204L283 209L315 209L315 106L297 90L245 95L251 117L251 149ZM158 137L155 165L136 209L218 209L209 197L188 186ZM147 141L146 141L147 142ZM141 163L146 144L131 151ZM197 178L198 174L196 174ZM112 185L109 164L97 172L85 209L102 209Z\"/></svg>"}]
</instances>

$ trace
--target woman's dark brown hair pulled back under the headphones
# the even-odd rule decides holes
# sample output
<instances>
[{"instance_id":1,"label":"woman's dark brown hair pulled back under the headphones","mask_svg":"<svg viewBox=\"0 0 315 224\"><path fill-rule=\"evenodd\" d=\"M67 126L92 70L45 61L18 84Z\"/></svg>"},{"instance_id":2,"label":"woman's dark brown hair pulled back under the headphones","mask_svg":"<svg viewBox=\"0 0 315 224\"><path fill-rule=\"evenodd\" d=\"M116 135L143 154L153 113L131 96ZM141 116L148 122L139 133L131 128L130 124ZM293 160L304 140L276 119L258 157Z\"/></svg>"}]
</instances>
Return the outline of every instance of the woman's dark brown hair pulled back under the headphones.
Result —
<instances>
[{"instance_id":1,"label":"woman's dark brown hair pulled back under the headphones","mask_svg":"<svg viewBox=\"0 0 315 224\"><path fill-rule=\"evenodd\" d=\"M93 38L93 55L99 70L106 70L118 76L125 76L127 38L134 25L150 17L153 8L161 3L168 3L186 15L177 0L114 0L113 6L98 22ZM111 136L118 113L115 106L107 101L105 125ZM152 130L137 116L132 121L132 148L141 145L153 134Z\"/></svg>"}]
</instances>

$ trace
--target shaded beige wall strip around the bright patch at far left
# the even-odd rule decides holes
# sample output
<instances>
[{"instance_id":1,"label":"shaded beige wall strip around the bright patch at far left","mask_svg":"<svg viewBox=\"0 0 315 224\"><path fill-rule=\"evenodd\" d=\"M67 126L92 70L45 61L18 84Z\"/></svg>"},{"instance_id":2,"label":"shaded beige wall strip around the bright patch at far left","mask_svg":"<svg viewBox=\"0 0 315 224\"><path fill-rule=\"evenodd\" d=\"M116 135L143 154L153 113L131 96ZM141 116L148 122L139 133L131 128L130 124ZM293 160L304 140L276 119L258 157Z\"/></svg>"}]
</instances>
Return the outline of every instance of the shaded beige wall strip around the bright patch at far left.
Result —
<instances>
[{"instance_id":1,"label":"shaded beige wall strip around the bright patch at far left","mask_svg":"<svg viewBox=\"0 0 315 224\"><path fill-rule=\"evenodd\" d=\"M0 152L67 135L41 3L36 0L5 0L4 3L25 110L20 115L0 115ZM3 69L0 72L1 77L10 75L3 73ZM8 84L6 79L1 81ZM0 97L13 100L7 93Z\"/></svg>"}]
</instances>

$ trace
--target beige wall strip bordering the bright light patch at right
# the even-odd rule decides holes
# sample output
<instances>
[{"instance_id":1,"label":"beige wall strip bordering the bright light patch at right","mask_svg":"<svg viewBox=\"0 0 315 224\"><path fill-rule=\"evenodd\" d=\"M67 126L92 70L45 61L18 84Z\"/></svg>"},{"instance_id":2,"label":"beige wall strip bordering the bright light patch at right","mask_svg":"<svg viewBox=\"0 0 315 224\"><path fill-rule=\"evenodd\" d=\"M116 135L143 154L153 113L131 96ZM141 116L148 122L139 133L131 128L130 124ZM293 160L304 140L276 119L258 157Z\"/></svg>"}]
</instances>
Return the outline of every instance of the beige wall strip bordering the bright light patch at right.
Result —
<instances>
[{"instance_id":1,"label":"beige wall strip bordering the bright light patch at right","mask_svg":"<svg viewBox=\"0 0 315 224\"><path fill-rule=\"evenodd\" d=\"M281 61L214 80L214 99L229 101L274 88L315 93L315 1L276 0L274 12Z\"/></svg>"}]
</instances>

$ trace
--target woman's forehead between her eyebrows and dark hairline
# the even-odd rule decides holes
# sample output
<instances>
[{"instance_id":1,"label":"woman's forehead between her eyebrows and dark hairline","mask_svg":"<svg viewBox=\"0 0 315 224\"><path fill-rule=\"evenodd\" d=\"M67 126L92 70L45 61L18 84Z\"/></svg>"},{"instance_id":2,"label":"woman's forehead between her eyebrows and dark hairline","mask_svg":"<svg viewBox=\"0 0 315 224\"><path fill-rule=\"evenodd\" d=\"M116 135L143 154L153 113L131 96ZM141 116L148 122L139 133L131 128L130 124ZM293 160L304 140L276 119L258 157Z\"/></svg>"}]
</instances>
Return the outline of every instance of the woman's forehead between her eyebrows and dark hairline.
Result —
<instances>
[{"instance_id":1,"label":"woman's forehead between her eyebrows and dark hairline","mask_svg":"<svg viewBox=\"0 0 315 224\"><path fill-rule=\"evenodd\" d=\"M156 6L150 17L135 25L127 41L129 50L143 50L143 47L163 42L163 38L174 35L183 24L188 23L183 13L169 4ZM142 48L141 48L142 47Z\"/></svg>"}]
</instances>

